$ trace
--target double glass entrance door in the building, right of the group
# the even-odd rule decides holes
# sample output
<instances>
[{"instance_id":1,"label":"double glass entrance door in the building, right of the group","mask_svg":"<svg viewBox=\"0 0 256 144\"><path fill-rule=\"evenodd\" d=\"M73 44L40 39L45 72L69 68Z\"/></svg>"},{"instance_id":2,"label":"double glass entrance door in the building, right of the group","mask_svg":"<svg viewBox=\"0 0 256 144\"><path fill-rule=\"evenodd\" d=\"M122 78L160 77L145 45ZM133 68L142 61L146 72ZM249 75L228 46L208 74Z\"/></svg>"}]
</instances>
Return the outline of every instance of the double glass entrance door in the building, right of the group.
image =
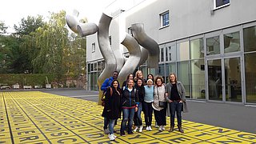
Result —
<instances>
[{"instance_id":1,"label":"double glass entrance door in the building, right of the group","mask_svg":"<svg viewBox=\"0 0 256 144\"><path fill-rule=\"evenodd\" d=\"M241 58L207 60L208 99L242 102Z\"/></svg>"}]
</instances>

